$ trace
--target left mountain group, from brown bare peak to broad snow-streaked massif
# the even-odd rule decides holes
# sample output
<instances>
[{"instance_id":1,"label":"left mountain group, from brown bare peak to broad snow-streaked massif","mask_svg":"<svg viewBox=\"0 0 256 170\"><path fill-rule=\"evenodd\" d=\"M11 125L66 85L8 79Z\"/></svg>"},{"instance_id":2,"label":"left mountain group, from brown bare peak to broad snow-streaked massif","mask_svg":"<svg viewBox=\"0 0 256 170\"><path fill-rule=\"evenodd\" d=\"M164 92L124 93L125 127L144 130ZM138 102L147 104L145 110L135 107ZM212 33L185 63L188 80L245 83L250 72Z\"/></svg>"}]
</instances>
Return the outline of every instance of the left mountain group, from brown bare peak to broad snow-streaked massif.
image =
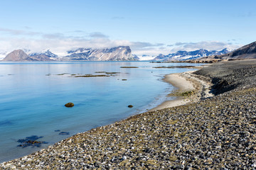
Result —
<instances>
[{"instance_id":1,"label":"left mountain group, from brown bare peak to broad snow-streaked massif","mask_svg":"<svg viewBox=\"0 0 256 170\"><path fill-rule=\"evenodd\" d=\"M139 58L132 55L129 46L92 49L78 48L68 51L65 57L58 57L50 50L30 52L30 50L14 50L2 61L136 61Z\"/></svg>"}]
</instances>

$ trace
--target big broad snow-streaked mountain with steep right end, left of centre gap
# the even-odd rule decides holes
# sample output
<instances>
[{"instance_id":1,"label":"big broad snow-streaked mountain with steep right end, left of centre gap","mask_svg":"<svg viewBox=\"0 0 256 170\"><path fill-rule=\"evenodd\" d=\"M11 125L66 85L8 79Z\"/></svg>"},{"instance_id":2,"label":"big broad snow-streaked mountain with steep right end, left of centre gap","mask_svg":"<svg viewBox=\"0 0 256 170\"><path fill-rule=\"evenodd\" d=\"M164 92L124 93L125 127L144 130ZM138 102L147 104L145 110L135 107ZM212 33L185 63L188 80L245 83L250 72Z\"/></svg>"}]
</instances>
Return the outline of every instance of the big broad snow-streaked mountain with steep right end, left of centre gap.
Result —
<instances>
[{"instance_id":1,"label":"big broad snow-streaked mountain with steep right end, left of centre gap","mask_svg":"<svg viewBox=\"0 0 256 170\"><path fill-rule=\"evenodd\" d=\"M62 57L60 60L134 61L138 60L138 57L132 55L129 46L119 46L102 49L78 48L68 51L68 56Z\"/></svg>"}]
</instances>

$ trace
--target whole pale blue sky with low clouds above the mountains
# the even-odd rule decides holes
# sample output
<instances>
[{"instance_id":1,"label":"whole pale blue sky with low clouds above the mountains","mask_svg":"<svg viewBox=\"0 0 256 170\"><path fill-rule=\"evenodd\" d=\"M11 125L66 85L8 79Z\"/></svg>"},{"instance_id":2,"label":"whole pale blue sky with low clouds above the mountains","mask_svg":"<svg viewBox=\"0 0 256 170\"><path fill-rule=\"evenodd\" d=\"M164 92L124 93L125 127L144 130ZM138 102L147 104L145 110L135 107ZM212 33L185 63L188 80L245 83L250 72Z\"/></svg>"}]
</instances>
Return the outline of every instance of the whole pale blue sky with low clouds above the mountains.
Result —
<instances>
[{"instance_id":1,"label":"whole pale blue sky with low clouds above the mountains","mask_svg":"<svg viewBox=\"0 0 256 170\"><path fill-rule=\"evenodd\" d=\"M0 1L0 57L129 45L135 55L235 49L256 40L255 0Z\"/></svg>"}]
</instances>

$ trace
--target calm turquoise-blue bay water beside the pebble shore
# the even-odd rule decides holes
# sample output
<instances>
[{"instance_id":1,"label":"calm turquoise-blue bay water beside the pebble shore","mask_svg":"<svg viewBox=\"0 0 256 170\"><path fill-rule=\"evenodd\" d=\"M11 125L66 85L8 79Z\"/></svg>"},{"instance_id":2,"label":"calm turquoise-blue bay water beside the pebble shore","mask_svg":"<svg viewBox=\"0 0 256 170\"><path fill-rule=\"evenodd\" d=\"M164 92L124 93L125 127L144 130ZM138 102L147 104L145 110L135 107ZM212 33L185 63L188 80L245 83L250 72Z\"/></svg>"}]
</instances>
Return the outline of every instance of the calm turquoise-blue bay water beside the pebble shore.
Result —
<instances>
[{"instance_id":1,"label":"calm turquoise-blue bay water beside the pebble shore","mask_svg":"<svg viewBox=\"0 0 256 170\"><path fill-rule=\"evenodd\" d=\"M174 89L161 81L164 75L191 70L152 68L170 65L191 64L0 62L0 162L154 108ZM70 77L70 74L105 74L95 72L119 73L111 77ZM66 108L68 102L75 106ZM130 104L134 107L128 108ZM55 130L70 135L58 135ZM20 145L17 140L32 135L42 136L38 140L48 144L17 147Z\"/></svg>"}]
</instances>

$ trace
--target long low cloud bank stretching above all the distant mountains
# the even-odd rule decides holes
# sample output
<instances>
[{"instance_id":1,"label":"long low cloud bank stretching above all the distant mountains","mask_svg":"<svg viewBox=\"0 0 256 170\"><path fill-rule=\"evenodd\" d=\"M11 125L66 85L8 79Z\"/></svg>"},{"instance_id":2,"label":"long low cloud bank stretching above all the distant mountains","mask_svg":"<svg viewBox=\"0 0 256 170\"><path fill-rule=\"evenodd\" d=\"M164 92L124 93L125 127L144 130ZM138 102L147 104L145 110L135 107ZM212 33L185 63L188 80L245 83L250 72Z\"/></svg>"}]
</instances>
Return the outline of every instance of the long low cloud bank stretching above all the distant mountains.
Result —
<instances>
[{"instance_id":1,"label":"long low cloud bank stretching above all the distant mountains","mask_svg":"<svg viewBox=\"0 0 256 170\"><path fill-rule=\"evenodd\" d=\"M222 50L225 47L236 49L241 45L235 44L235 40L228 42L201 41L201 42L176 42L174 44L132 42L129 40L111 40L104 33L85 33L82 30L74 30L68 33L40 33L31 30L11 30L0 28L0 57L17 50L31 50L40 52L49 49L56 55L64 56L68 50L78 47L117 47L129 46L134 55L168 55L178 50Z\"/></svg>"}]
</instances>

